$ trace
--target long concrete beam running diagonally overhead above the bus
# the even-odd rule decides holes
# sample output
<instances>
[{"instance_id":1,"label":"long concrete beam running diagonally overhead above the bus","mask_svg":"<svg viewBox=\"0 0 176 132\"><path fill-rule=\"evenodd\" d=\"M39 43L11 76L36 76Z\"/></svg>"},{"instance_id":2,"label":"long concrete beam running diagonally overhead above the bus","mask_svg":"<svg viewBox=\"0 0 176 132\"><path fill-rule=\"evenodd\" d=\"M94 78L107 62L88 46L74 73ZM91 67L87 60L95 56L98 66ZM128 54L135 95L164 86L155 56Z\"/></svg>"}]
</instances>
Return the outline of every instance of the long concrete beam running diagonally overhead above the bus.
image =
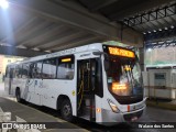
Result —
<instances>
[{"instance_id":1,"label":"long concrete beam running diagonally overhead above the bus","mask_svg":"<svg viewBox=\"0 0 176 132\"><path fill-rule=\"evenodd\" d=\"M77 4L68 4L65 1L57 0L9 0L11 4L32 11L38 16L55 22L64 22L68 26L74 26L108 40L116 40L129 45L142 46L143 35L136 31L127 28L121 30L122 25L112 23L101 15L86 12L85 9L76 10ZM69 1L74 2L74 1ZM96 15L96 16L95 16ZM122 37L123 36L123 37Z\"/></svg>"}]
</instances>

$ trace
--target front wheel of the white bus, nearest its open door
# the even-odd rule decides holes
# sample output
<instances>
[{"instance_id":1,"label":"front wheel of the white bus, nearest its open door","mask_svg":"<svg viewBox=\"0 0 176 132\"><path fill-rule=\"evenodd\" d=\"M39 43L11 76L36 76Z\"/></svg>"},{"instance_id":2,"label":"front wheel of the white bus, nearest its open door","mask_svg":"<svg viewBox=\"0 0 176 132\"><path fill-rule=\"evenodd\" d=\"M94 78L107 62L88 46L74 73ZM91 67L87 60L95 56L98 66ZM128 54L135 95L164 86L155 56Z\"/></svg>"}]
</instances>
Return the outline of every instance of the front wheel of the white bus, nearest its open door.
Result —
<instances>
[{"instance_id":1,"label":"front wheel of the white bus, nearest its open door","mask_svg":"<svg viewBox=\"0 0 176 132\"><path fill-rule=\"evenodd\" d=\"M64 100L61 109L62 118L66 121L73 120L73 109L68 99Z\"/></svg>"}]
</instances>

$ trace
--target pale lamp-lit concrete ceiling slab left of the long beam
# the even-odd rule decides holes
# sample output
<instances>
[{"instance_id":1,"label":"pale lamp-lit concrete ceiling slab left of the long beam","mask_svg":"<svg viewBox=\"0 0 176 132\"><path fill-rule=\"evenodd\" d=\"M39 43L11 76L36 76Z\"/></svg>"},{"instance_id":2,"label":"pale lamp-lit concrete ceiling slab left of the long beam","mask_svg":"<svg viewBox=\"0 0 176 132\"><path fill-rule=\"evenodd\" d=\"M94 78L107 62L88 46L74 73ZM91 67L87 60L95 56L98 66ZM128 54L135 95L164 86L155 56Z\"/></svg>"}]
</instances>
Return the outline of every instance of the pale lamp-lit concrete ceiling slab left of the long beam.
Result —
<instances>
[{"instance_id":1,"label":"pale lamp-lit concrete ceiling slab left of the long beam","mask_svg":"<svg viewBox=\"0 0 176 132\"><path fill-rule=\"evenodd\" d=\"M18 6L11 6L8 10L0 11L0 20L4 21L0 24L1 46L47 53L107 40L62 21L51 21Z\"/></svg>"}]
</instances>

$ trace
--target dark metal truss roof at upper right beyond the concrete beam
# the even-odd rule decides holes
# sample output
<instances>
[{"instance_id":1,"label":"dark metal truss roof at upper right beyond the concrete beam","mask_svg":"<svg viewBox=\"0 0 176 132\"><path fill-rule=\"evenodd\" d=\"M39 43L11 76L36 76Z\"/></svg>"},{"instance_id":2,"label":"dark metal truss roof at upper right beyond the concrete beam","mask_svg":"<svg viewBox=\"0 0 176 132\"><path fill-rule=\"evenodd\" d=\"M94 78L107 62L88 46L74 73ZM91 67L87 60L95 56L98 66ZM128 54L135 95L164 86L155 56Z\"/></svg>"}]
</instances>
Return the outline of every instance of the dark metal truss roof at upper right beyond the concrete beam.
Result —
<instances>
[{"instance_id":1,"label":"dark metal truss roof at upper right beyond the concrete beam","mask_svg":"<svg viewBox=\"0 0 176 132\"><path fill-rule=\"evenodd\" d=\"M143 33L146 46L176 42L175 0L76 0L90 12ZM176 45L176 43L175 43Z\"/></svg>"}]
</instances>

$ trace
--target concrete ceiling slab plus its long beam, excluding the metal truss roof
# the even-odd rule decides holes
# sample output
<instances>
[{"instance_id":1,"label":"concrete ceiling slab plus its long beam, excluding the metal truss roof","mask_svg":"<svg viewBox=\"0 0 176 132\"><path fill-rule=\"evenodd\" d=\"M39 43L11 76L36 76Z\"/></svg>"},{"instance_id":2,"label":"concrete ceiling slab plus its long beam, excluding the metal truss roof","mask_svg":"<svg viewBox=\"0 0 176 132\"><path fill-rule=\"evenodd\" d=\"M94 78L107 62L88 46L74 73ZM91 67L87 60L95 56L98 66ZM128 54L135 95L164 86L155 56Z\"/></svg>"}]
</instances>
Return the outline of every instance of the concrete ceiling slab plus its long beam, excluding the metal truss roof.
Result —
<instances>
[{"instance_id":1,"label":"concrete ceiling slab plus its long beam, excluding the metal truss roof","mask_svg":"<svg viewBox=\"0 0 176 132\"><path fill-rule=\"evenodd\" d=\"M9 0L9 9L0 9L0 54L10 54L9 48L18 51L13 53L23 50L46 54L110 40L136 46L143 43L141 33L130 28L123 31L121 23L89 12L75 0Z\"/></svg>"}]
</instances>

